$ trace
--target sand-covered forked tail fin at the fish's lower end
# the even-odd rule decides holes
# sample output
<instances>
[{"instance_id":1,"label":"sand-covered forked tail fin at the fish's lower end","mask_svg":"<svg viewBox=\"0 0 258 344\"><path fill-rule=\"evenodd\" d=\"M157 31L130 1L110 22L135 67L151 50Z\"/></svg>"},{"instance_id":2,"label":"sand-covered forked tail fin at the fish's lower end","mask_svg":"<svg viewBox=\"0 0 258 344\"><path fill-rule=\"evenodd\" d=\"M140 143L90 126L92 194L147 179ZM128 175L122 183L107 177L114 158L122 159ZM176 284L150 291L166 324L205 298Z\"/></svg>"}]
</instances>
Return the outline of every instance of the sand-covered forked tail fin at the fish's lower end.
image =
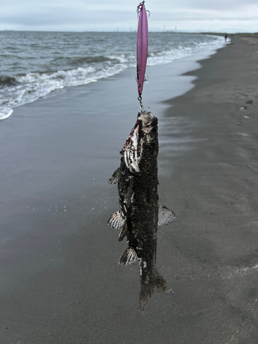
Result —
<instances>
[{"instance_id":1,"label":"sand-covered forked tail fin at the fish's lower end","mask_svg":"<svg viewBox=\"0 0 258 344\"><path fill-rule=\"evenodd\" d=\"M141 278L139 308L142 312L147 308L149 299L151 299L154 292L173 293L173 289L166 283L166 280L160 276L157 270L151 279Z\"/></svg>"}]
</instances>

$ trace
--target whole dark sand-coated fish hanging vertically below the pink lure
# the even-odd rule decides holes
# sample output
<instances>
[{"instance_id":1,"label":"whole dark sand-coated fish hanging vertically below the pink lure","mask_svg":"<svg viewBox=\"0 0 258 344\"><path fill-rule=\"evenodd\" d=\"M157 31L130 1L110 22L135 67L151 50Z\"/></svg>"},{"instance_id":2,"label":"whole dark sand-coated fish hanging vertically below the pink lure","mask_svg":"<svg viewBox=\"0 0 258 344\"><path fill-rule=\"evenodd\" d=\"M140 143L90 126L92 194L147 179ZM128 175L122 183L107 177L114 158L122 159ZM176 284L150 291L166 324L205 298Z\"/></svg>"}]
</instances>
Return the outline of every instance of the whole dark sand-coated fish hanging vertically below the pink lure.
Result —
<instances>
[{"instance_id":1,"label":"whole dark sand-coated fish hanging vertically below the pink lure","mask_svg":"<svg viewBox=\"0 0 258 344\"><path fill-rule=\"evenodd\" d=\"M149 111L138 113L122 151L120 167L109 184L118 183L120 209L109 218L111 227L120 229L128 246L119 264L140 265L139 307L144 312L154 292L173 292L156 266L158 226L176 219L173 211L158 203L158 119Z\"/></svg>"}]
</instances>

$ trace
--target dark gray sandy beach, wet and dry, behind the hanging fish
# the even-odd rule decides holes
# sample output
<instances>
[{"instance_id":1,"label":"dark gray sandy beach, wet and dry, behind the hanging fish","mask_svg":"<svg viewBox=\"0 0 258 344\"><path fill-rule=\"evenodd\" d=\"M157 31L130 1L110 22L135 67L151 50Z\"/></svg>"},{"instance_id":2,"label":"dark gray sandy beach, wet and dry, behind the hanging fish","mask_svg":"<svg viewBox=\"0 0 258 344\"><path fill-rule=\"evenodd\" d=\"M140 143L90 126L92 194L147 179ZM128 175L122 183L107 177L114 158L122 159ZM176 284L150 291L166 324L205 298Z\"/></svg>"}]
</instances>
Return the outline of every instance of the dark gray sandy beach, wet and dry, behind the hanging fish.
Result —
<instances>
[{"instance_id":1,"label":"dark gray sandy beach, wet and dry, behind the hanging fish","mask_svg":"<svg viewBox=\"0 0 258 344\"><path fill-rule=\"evenodd\" d=\"M174 294L154 294L144 314L138 266L118 266L126 243L107 226L118 195L106 180L138 107L133 72L0 122L1 344L258 343L257 42L234 36L180 78L197 76L191 91L151 103L160 201L178 219L158 233ZM153 69L165 96L173 66ZM155 85L144 92L155 99Z\"/></svg>"}]
</instances>

